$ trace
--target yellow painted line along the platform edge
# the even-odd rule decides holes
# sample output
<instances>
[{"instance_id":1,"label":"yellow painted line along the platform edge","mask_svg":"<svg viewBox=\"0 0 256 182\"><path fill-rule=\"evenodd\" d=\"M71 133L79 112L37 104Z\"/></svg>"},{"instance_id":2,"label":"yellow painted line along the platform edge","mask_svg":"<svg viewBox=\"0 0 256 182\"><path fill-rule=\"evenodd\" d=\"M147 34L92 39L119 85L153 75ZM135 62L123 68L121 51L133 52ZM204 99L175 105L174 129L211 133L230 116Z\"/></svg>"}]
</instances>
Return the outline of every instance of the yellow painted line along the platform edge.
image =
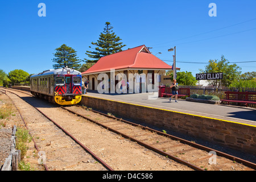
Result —
<instances>
[{"instance_id":1,"label":"yellow painted line along the platform edge","mask_svg":"<svg viewBox=\"0 0 256 182\"><path fill-rule=\"evenodd\" d=\"M84 95L82 95L82 96L84 96ZM179 114L193 115L193 116L195 116L195 117L208 118L208 119L214 119L214 120L218 120L218 121L224 121L224 122L230 122L230 123L236 123L236 124L240 124L240 125L246 125L246 126L256 127L256 126L254 126L254 125L249 125L249 124L245 124L245 123L238 123L238 122L228 121L228 120L224 120L224 119L217 119L217 118L205 117L205 116L202 116L202 115L181 113L181 112L179 112L179 111L173 111L173 110L167 110L167 109L160 109L160 108L156 108L156 107L143 106L143 105L138 105L138 104L131 104L131 103L128 103L128 102L115 101L115 100L110 100L110 99L107 99L107 98L93 97L93 96L84 96L84 97L98 98L98 99L107 100L107 101L119 102L119 103L122 103L122 104L130 104L130 105L135 105L135 106L148 107L148 108L150 108L150 109L158 109L158 110L170 111L170 112L179 113Z\"/></svg>"}]
</instances>

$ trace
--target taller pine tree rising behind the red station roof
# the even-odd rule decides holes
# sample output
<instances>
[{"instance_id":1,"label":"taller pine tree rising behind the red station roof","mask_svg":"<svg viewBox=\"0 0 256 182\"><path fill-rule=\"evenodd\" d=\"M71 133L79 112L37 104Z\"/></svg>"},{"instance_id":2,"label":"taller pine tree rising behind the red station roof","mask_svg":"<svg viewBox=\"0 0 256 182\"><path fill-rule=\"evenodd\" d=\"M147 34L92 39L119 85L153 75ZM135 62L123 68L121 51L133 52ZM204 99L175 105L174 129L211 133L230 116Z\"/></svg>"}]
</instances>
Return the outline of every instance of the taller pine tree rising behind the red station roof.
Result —
<instances>
[{"instance_id":1,"label":"taller pine tree rising behind the red station roof","mask_svg":"<svg viewBox=\"0 0 256 182\"><path fill-rule=\"evenodd\" d=\"M119 42L119 36L115 35L113 32L113 27L109 22L105 23L105 28L103 33L101 32L100 38L96 43L92 42L94 46L98 46L95 48L96 51L86 51L86 55L88 57L93 58L94 60L85 59L87 63L96 63L101 57L111 55L112 53L117 53L122 51L122 47L126 45L122 45L122 42ZM92 48L89 46L89 48Z\"/></svg>"}]
</instances>

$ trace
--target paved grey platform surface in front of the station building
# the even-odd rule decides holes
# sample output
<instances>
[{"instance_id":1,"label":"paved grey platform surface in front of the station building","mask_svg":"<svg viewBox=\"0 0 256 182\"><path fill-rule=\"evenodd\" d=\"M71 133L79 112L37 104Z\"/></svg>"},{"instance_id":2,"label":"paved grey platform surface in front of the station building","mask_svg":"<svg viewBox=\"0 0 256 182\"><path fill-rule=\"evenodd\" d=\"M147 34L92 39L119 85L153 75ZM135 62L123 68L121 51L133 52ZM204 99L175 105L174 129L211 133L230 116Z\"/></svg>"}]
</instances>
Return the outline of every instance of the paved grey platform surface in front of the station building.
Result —
<instances>
[{"instance_id":1,"label":"paved grey platform surface in front of the station building","mask_svg":"<svg viewBox=\"0 0 256 182\"><path fill-rule=\"evenodd\" d=\"M170 102L169 98L159 98L158 94L152 93L100 94L89 90L85 95L256 126L256 109L251 107L204 104L181 99Z\"/></svg>"}]
</instances>

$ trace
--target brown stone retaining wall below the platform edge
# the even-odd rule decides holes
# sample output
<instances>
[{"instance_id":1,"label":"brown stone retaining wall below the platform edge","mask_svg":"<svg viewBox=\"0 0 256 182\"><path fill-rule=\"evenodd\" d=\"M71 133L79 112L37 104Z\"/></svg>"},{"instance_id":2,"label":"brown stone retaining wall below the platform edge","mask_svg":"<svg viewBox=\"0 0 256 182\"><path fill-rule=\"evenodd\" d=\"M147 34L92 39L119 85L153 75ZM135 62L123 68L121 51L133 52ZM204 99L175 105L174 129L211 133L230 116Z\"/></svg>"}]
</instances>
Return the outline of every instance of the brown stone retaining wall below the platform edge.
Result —
<instances>
[{"instance_id":1,"label":"brown stone retaining wall below the platform edge","mask_svg":"<svg viewBox=\"0 0 256 182\"><path fill-rule=\"evenodd\" d=\"M81 104L256 154L255 126L90 96Z\"/></svg>"}]
</instances>

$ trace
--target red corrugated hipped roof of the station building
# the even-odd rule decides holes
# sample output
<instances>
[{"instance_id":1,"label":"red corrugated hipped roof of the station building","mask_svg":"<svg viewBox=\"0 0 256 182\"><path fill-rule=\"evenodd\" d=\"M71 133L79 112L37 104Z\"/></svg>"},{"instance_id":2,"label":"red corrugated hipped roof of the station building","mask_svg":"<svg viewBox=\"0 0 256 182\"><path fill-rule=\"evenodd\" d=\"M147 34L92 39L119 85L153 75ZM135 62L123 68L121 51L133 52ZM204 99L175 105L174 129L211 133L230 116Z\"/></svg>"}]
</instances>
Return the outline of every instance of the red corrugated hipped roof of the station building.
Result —
<instances>
[{"instance_id":1,"label":"red corrugated hipped roof of the station building","mask_svg":"<svg viewBox=\"0 0 256 182\"><path fill-rule=\"evenodd\" d=\"M172 69L170 65L152 55L147 47L142 45L101 57L96 64L82 72L82 75L125 68Z\"/></svg>"}]
</instances>

